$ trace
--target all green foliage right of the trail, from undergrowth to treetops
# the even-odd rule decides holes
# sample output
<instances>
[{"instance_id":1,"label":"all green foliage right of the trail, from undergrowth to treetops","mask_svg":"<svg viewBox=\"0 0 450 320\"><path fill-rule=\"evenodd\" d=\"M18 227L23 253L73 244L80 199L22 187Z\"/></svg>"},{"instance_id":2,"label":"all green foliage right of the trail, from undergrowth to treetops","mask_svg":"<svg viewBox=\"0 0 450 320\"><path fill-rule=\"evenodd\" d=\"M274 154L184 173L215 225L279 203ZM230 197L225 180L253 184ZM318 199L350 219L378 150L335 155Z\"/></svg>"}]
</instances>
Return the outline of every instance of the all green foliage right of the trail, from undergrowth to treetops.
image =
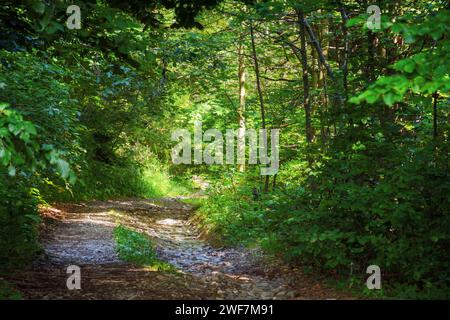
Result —
<instances>
[{"instance_id":1,"label":"all green foliage right of the trail, from undergrowth to treetops","mask_svg":"<svg viewBox=\"0 0 450 320\"><path fill-rule=\"evenodd\" d=\"M216 183L198 218L215 242L260 245L292 263L333 274L347 286L358 284L360 293L448 298L450 15L438 2L419 2L415 8L388 1L379 5L383 14L377 31L363 26L366 7L353 1L344 1L339 8L329 2L304 1L300 6L267 2L245 14L239 8L234 11L228 27L238 35L248 32L241 27L244 21L250 17L258 21L256 44L264 70L266 123L282 128L281 170L276 187L265 194L261 192L264 179L258 179L251 168L240 175L229 168L199 168ZM334 72L333 79L328 75L321 82L323 74L317 69L323 66L314 47L307 48L315 131L309 144L304 138L301 102L305 88L298 76L304 70L299 70L299 54L288 50L299 46L293 8L305 12L322 48L329 46L325 58ZM346 23L345 30L340 9L352 17L359 14ZM290 14L292 23L278 20L277 14ZM350 44L347 61L341 49L332 50L344 47L344 32ZM218 62L207 54L199 63L183 61L188 65L183 70L195 82L183 87L187 99L177 96L181 121L189 114L187 119L201 118L208 128L237 125L238 95L230 97L227 92L230 86L237 92L237 59L227 54L229 45L218 44L235 39L250 54L249 39L223 31L220 37L209 42L209 48L223 57ZM195 43L186 42L184 46ZM247 128L260 126L252 59L244 59L250 66ZM223 61L228 63L219 68ZM199 76L218 92L203 93L197 85ZM179 92L180 87L175 89ZM196 99L191 92L202 95ZM381 267L383 292L363 290L370 264Z\"/></svg>"}]
</instances>

